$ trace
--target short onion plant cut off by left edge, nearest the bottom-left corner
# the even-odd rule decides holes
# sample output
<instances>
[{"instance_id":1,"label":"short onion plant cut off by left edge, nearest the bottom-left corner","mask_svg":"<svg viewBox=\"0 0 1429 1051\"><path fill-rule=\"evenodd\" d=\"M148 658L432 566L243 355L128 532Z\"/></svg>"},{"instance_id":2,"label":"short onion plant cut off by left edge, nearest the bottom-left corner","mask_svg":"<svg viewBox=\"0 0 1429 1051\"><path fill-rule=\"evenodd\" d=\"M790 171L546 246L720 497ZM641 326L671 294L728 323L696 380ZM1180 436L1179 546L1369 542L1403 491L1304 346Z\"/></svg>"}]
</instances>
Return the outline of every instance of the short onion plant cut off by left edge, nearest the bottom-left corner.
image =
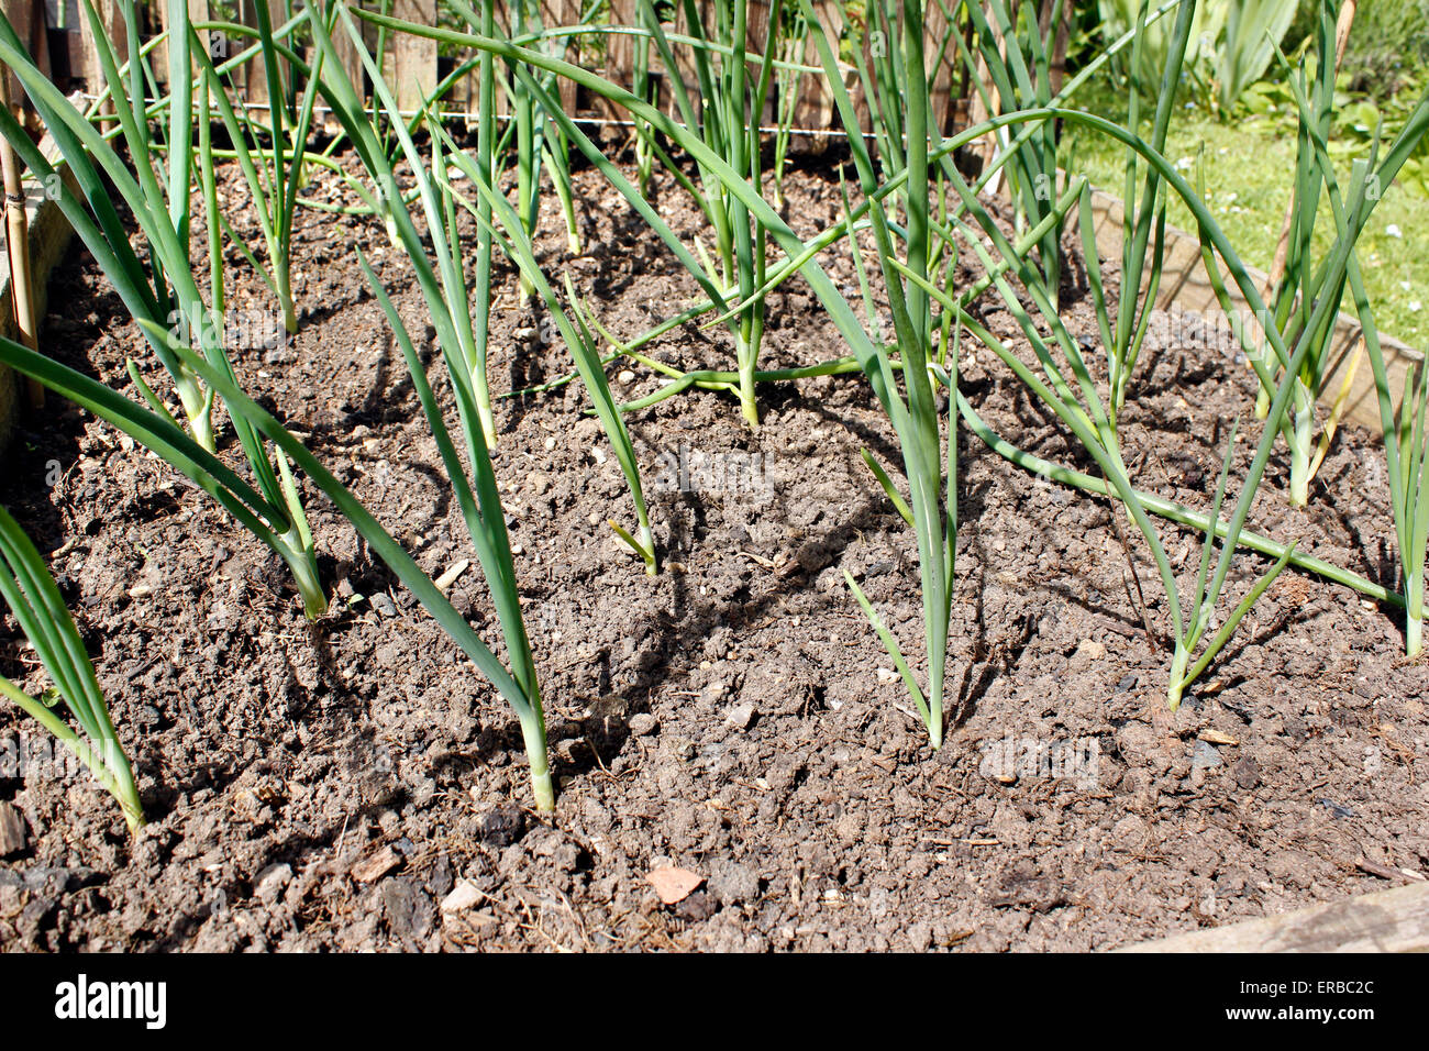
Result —
<instances>
[{"instance_id":1,"label":"short onion plant cut off by left edge, nearest the bottom-left corner","mask_svg":"<svg viewBox=\"0 0 1429 1051\"><path fill-rule=\"evenodd\" d=\"M3 343L21 346L10 340ZM0 596L54 684L53 694L34 698L0 675L0 696L19 705L69 748L119 802L129 831L136 831L144 824L144 808L129 756L94 678L94 665L44 559L4 508L0 508ZM60 701L79 724L79 732L54 712Z\"/></svg>"}]
</instances>

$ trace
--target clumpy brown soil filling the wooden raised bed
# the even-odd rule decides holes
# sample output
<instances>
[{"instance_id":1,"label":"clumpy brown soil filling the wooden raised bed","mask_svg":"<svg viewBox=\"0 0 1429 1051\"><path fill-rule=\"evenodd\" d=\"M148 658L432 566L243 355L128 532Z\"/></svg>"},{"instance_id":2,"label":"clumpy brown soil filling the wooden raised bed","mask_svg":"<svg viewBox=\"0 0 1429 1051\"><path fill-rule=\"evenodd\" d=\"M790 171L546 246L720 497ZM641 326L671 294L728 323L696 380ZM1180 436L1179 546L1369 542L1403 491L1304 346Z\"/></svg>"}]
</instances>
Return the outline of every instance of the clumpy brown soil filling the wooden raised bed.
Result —
<instances>
[{"instance_id":1,"label":"clumpy brown soil filling the wooden raised bed","mask_svg":"<svg viewBox=\"0 0 1429 1051\"><path fill-rule=\"evenodd\" d=\"M597 173L577 173L577 189L586 252L566 255L549 199L542 257L603 325L630 337L694 296ZM350 200L330 174L312 193ZM805 236L840 209L827 163L793 172L787 194ZM243 197L224 173L229 214L254 233ZM673 180L657 180L657 203L682 235L702 229ZM494 643L354 243L454 426L410 269L366 219L300 214L302 330L236 349L236 369L427 572L473 561L452 596ZM269 310L237 253L230 265L233 307ZM827 265L856 296L847 252ZM569 372L509 267L500 280L494 389ZM133 393L124 359L151 359L101 275L74 252L54 282L49 350ZM1065 292L1073 332L1090 333L1076 266ZM1005 309L979 309L1026 353ZM765 352L773 367L842 353L802 283L772 297ZM679 329L652 353L732 367L717 329ZM622 398L659 382L623 367L610 369ZM1006 436L1079 463L987 350L966 356L963 383ZM510 711L320 493L306 486L334 605L309 625L282 563L211 499L51 400L19 433L0 496L74 611L150 824L129 838L84 776L0 769L23 841L0 859L0 945L1085 951L1383 888L1360 858L1429 867L1429 672L1402 658L1392 609L1288 571L1172 714L1170 655L1143 626L1166 631L1166 601L1142 541L1106 500L1039 482L966 430L950 725L930 751L843 582L860 579L926 675L913 535L859 458L866 448L899 476L892 429L857 375L760 395L757 433L712 392L630 418L654 578L613 543L606 519L630 525L633 510L580 385L497 403L496 472L560 784L549 819L527 809ZM1229 347L1156 336L1125 419L1139 485L1208 506L1236 416L1249 420L1238 473L1249 462L1252 400ZM1272 460L1252 525L1390 583L1370 438L1340 430L1308 510L1286 510L1285 468ZM1162 536L1189 582L1199 539L1169 525ZM1228 602L1265 566L1239 558ZM4 673L43 689L13 622L4 632ZM11 754L41 741L0 711ZM646 878L667 865L703 878L674 905Z\"/></svg>"}]
</instances>

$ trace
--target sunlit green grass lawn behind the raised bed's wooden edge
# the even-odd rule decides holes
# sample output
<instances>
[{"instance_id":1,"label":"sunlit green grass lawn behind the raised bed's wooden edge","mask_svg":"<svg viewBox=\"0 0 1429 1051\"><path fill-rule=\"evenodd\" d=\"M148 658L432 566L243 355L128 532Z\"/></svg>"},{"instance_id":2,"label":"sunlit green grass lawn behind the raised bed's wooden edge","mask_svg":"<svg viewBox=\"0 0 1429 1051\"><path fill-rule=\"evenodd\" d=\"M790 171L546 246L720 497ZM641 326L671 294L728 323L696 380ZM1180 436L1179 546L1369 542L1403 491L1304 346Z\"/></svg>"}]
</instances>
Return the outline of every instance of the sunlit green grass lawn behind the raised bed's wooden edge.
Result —
<instances>
[{"instance_id":1,"label":"sunlit green grass lawn behind the raised bed's wooden edge","mask_svg":"<svg viewBox=\"0 0 1429 1051\"><path fill-rule=\"evenodd\" d=\"M1082 102L1093 113L1115 117L1125 100L1107 96ZM1120 197L1125 192L1125 150L1119 143L1085 129L1069 129L1063 157L1092 184ZM1075 150L1075 153L1072 153ZM1166 156L1198 184L1198 164L1205 176L1206 203L1230 243L1250 266L1270 269L1280 223L1289 203L1295 172L1295 120L1270 113L1220 122L1196 109L1180 109L1172 119ZM1349 159L1338 164L1340 186L1348 184ZM1167 222L1195 233L1190 212L1172 196ZM1332 223L1325 209L1316 223L1316 245L1328 249ZM1369 219L1359 259L1375 322L1386 336L1429 349L1429 199L1390 186ZM1353 313L1349 292L1345 309Z\"/></svg>"}]
</instances>

